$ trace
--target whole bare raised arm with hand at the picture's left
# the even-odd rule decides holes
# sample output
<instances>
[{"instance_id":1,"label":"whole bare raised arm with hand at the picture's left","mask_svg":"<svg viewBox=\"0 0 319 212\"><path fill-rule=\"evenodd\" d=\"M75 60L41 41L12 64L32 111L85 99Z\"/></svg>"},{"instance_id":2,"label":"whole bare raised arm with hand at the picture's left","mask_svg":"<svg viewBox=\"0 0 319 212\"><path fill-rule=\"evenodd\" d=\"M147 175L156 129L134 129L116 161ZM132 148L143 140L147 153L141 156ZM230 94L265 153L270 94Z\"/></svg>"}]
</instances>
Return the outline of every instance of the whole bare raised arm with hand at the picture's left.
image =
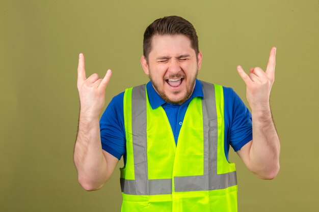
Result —
<instances>
[{"instance_id":1,"label":"whole bare raised arm with hand at the picture's left","mask_svg":"<svg viewBox=\"0 0 319 212\"><path fill-rule=\"evenodd\" d=\"M97 74L86 78L84 55L79 54L77 89L80 100L78 132L74 145L74 164L78 182L87 191L100 189L112 175L118 159L102 150L99 114L105 103L105 88L111 78Z\"/></svg>"}]
</instances>

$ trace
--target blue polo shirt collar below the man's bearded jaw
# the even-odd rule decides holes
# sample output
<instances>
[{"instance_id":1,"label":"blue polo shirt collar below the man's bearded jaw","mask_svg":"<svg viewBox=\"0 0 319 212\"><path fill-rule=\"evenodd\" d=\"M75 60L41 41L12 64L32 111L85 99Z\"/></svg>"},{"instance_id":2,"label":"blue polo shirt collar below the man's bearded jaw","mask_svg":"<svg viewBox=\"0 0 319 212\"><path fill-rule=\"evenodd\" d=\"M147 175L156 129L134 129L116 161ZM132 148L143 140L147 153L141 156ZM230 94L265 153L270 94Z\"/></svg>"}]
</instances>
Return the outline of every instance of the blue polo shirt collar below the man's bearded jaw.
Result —
<instances>
[{"instance_id":1,"label":"blue polo shirt collar below the man's bearded jaw","mask_svg":"<svg viewBox=\"0 0 319 212\"><path fill-rule=\"evenodd\" d=\"M149 100L149 103L152 107L152 109L155 109L167 102L164 101L164 99L162 99L162 97L160 97L156 90L154 89L151 81L149 81L147 84L146 84L146 89L147 89L147 96L148 96L148 100ZM202 83L200 82L200 80L196 79L196 82L195 82L195 87L194 87L194 90L193 90L193 93L191 95L191 97L189 98L188 101L186 102L189 102L190 100L192 100L194 97L201 97L203 98L204 97L204 94L203 94L203 89L202 89ZM184 104L184 103L183 103Z\"/></svg>"}]
</instances>

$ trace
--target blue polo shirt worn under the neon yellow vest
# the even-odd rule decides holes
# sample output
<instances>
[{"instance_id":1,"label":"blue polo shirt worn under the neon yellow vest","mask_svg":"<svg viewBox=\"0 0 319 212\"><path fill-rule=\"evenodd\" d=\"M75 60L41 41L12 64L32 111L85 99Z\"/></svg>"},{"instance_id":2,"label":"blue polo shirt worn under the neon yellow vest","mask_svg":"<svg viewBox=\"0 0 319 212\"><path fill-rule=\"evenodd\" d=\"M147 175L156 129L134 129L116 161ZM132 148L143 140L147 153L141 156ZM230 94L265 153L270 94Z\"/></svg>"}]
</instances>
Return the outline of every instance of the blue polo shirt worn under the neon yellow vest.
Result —
<instances>
[{"instance_id":1,"label":"blue polo shirt worn under the neon yellow vest","mask_svg":"<svg viewBox=\"0 0 319 212\"><path fill-rule=\"evenodd\" d=\"M151 82L146 85L149 103L152 109L162 106L167 114L174 134L175 143L190 101L194 97L203 98L202 83L196 79L192 96L183 104L165 102L155 91ZM247 142L252 140L251 113L240 97L232 88L223 87L224 91L224 119L225 119L225 155L228 160L229 145L240 150ZM126 159L126 138L123 115L124 92L115 96L100 119L100 133L102 149L121 159Z\"/></svg>"}]
</instances>

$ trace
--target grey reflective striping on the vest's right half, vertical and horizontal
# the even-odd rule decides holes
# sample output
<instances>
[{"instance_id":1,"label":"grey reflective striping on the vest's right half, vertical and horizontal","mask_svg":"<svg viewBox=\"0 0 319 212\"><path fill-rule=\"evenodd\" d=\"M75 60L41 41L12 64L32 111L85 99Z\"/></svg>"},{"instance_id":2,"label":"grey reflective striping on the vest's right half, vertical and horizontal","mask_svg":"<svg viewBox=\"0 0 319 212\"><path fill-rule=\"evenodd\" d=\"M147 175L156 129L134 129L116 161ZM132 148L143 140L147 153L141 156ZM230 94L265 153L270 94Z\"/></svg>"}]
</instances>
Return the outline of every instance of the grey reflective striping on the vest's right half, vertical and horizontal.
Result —
<instances>
[{"instance_id":1,"label":"grey reflective striping on the vest's right half, vertical and horizontal","mask_svg":"<svg viewBox=\"0 0 319 212\"><path fill-rule=\"evenodd\" d=\"M215 86L202 82L204 130L204 175L174 177L175 191L203 191L226 189L237 185L236 172L217 174L217 112Z\"/></svg>"}]
</instances>

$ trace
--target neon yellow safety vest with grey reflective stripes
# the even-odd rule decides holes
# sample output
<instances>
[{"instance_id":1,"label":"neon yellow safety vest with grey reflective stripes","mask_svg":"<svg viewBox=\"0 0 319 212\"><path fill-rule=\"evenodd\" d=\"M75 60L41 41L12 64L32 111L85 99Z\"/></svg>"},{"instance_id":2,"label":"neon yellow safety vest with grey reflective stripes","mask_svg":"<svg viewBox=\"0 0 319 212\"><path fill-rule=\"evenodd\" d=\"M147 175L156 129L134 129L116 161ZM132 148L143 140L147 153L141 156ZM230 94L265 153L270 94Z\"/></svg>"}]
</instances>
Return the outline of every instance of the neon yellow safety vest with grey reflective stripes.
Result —
<instances>
[{"instance_id":1,"label":"neon yellow safety vest with grey reflective stripes","mask_svg":"<svg viewBox=\"0 0 319 212\"><path fill-rule=\"evenodd\" d=\"M122 212L237 211L235 164L224 151L223 87L202 85L204 97L191 100L177 145L163 107L151 108L146 85L125 90Z\"/></svg>"}]
</instances>

